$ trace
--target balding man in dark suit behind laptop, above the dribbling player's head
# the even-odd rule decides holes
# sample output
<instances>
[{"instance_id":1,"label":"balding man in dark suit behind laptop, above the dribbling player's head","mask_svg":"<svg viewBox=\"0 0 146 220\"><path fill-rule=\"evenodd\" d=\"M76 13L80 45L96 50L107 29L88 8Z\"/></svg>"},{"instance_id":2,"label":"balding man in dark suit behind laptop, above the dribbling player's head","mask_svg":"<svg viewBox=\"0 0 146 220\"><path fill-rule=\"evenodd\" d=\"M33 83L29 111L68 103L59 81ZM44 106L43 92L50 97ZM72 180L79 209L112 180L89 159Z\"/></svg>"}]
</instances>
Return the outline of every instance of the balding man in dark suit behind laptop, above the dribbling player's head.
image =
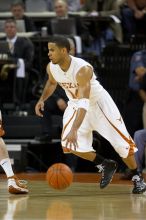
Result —
<instances>
[{"instance_id":1,"label":"balding man in dark suit behind laptop, above the dribbling player's head","mask_svg":"<svg viewBox=\"0 0 146 220\"><path fill-rule=\"evenodd\" d=\"M68 19L72 18L75 22L76 35L81 37L83 52L84 48L91 43L91 35L88 28L81 21L80 16L72 16L68 14L68 4L63 0L56 0L54 4L56 17L53 19ZM52 20L53 20L52 19ZM51 21L48 23L48 34L52 34Z\"/></svg>"}]
</instances>

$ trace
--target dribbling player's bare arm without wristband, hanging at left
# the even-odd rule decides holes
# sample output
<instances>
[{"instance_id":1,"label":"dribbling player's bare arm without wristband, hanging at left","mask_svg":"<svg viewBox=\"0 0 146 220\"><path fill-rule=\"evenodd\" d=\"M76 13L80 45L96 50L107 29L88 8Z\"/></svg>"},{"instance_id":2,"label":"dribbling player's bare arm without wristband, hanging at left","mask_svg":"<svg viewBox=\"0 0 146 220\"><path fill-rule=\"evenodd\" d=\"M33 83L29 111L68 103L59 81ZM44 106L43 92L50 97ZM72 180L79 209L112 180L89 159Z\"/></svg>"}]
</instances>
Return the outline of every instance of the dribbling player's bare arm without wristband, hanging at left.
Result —
<instances>
[{"instance_id":1,"label":"dribbling player's bare arm without wristband, hanging at left","mask_svg":"<svg viewBox=\"0 0 146 220\"><path fill-rule=\"evenodd\" d=\"M47 65L48 80L43 89L42 95L35 106L36 115L43 117L44 102L53 94L57 87L57 82L50 72L50 64Z\"/></svg>"}]
</instances>

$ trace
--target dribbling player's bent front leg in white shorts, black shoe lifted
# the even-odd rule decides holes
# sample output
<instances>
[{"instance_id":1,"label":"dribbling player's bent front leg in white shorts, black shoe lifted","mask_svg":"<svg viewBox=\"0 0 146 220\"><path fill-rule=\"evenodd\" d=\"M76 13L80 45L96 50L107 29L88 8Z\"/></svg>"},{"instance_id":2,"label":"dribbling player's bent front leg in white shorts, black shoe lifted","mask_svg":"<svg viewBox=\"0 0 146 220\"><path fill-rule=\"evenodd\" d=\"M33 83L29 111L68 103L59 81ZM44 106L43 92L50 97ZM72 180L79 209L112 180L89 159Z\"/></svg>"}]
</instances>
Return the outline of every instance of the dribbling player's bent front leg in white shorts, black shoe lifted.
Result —
<instances>
[{"instance_id":1,"label":"dribbling player's bent front leg in white shorts, black shoe lifted","mask_svg":"<svg viewBox=\"0 0 146 220\"><path fill-rule=\"evenodd\" d=\"M72 111L72 108L69 109L69 114L67 113L67 111L65 112L63 120L64 126L62 139L69 133L75 118L75 113ZM78 130L78 148L76 149L76 151L73 148L72 150L66 148L65 142L62 141L63 151L64 153L73 153L78 157L92 161L102 173L100 188L104 188L111 182L113 175L117 169L117 163L113 160L105 159L94 151L92 147L92 128L90 126L90 119L88 119L88 117L89 114L87 113L80 129Z\"/></svg>"}]
</instances>

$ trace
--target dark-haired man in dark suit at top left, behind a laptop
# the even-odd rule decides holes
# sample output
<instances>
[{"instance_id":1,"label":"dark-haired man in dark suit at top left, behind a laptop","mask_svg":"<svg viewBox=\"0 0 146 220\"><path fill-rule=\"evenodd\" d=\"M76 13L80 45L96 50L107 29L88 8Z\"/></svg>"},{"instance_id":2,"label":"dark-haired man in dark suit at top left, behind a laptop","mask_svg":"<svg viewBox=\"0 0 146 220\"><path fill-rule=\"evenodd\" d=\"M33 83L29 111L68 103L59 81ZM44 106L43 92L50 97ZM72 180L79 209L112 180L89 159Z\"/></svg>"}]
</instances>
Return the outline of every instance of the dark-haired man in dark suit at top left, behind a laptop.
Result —
<instances>
[{"instance_id":1,"label":"dark-haired man in dark suit at top left, behind a laptop","mask_svg":"<svg viewBox=\"0 0 146 220\"><path fill-rule=\"evenodd\" d=\"M11 4L11 12L16 20L23 20L26 32L36 31L35 25L31 18L24 14L25 5L21 0L14 0Z\"/></svg>"}]
</instances>

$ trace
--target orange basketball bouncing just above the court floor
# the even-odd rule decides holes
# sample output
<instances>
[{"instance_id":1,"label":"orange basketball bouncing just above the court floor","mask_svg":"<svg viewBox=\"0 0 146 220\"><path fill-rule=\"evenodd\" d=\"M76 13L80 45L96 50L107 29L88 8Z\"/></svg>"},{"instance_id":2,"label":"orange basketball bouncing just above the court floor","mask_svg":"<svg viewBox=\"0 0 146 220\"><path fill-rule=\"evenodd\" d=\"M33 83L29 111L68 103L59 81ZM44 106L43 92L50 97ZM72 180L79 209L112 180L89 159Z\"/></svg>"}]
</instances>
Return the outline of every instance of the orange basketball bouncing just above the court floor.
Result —
<instances>
[{"instance_id":1,"label":"orange basketball bouncing just above the court floor","mask_svg":"<svg viewBox=\"0 0 146 220\"><path fill-rule=\"evenodd\" d=\"M73 181L73 173L66 164L55 163L47 170L46 180L50 187L54 189L65 189Z\"/></svg>"}]
</instances>

